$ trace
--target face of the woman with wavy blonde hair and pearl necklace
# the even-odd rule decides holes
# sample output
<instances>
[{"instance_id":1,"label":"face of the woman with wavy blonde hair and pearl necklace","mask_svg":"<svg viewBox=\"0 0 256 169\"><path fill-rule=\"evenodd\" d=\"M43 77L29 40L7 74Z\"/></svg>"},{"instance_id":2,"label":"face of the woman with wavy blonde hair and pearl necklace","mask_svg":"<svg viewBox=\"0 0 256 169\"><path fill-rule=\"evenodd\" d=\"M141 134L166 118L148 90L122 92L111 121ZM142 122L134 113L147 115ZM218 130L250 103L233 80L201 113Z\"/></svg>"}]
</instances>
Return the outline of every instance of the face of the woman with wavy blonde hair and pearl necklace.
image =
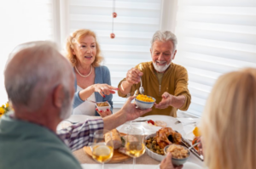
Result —
<instances>
[{"instance_id":1,"label":"face of the woman with wavy blonde hair and pearl necklace","mask_svg":"<svg viewBox=\"0 0 256 169\"><path fill-rule=\"evenodd\" d=\"M92 36L81 37L74 45L73 54L81 65L91 65L96 57L96 40Z\"/></svg>"}]
</instances>

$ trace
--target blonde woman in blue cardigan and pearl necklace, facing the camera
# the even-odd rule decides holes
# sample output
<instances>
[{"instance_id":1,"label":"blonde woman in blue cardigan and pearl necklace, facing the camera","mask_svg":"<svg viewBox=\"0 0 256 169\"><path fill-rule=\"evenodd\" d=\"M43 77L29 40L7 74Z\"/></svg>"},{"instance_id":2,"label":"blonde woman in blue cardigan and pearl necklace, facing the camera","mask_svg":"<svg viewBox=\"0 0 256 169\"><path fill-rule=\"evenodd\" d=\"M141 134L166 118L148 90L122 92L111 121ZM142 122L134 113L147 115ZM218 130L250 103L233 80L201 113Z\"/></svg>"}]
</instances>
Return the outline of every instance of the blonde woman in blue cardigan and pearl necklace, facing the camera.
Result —
<instances>
[{"instance_id":1,"label":"blonde woman in blue cardigan and pearl necklace, facing the camera","mask_svg":"<svg viewBox=\"0 0 256 169\"><path fill-rule=\"evenodd\" d=\"M111 114L113 108L112 94L117 90L111 87L108 67L100 65L102 56L96 34L90 30L74 31L67 38L67 58L73 65L76 75L73 114L98 115ZM111 110L97 111L92 102L105 102Z\"/></svg>"}]
</instances>

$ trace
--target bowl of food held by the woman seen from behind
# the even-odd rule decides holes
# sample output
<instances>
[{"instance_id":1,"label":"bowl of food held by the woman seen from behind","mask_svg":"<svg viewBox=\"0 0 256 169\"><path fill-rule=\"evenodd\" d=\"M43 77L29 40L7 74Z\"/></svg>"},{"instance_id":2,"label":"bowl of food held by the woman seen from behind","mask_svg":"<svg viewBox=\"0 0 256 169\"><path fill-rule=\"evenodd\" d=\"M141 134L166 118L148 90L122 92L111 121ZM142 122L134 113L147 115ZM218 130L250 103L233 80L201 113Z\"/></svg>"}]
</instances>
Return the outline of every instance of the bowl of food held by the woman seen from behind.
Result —
<instances>
[{"instance_id":1,"label":"bowl of food held by the woman seen from behind","mask_svg":"<svg viewBox=\"0 0 256 169\"><path fill-rule=\"evenodd\" d=\"M178 144L170 144L166 145L165 154L172 153L172 164L176 166L183 165L188 159L190 155L190 151L183 145Z\"/></svg>"}]
</instances>

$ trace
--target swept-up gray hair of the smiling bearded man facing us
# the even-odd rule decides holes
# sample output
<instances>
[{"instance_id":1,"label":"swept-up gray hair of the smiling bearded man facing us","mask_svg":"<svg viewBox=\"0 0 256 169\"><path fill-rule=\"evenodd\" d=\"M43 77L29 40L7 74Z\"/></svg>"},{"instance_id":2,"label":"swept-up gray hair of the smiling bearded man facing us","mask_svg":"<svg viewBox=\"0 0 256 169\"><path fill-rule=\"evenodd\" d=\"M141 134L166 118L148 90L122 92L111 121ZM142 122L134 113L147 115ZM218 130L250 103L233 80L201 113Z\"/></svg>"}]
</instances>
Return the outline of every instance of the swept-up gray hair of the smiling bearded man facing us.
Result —
<instances>
[{"instance_id":1,"label":"swept-up gray hair of the smiling bearded man facing us","mask_svg":"<svg viewBox=\"0 0 256 169\"><path fill-rule=\"evenodd\" d=\"M156 31L151 39L151 48L153 47L154 41L172 41L174 47L173 52L177 48L177 37L172 33L172 31Z\"/></svg>"}]
</instances>

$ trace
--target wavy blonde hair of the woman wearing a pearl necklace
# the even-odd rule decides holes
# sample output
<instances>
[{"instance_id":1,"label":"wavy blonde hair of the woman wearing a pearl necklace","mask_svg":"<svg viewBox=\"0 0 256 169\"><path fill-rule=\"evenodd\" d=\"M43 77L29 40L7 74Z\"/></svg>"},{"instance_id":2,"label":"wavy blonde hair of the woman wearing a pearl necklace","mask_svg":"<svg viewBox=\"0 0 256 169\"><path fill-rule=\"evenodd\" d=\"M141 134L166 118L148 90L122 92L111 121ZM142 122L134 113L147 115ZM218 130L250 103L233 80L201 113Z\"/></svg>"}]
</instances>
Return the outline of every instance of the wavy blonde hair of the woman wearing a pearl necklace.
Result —
<instances>
[{"instance_id":1,"label":"wavy blonde hair of the woman wearing a pearl necklace","mask_svg":"<svg viewBox=\"0 0 256 169\"><path fill-rule=\"evenodd\" d=\"M93 67L99 66L103 60L103 58L101 56L101 48L100 48L99 43L97 42L95 32L90 31L90 30L80 29L80 30L74 31L69 37L67 37L67 43L66 43L67 59L70 60L70 62L72 63L73 66L75 66L77 64L78 59L77 59L76 55L73 54L74 44L77 42L80 42L81 38L86 37L86 36L92 36L95 38L96 57L95 57L94 62L92 63L92 66Z\"/></svg>"}]
</instances>

